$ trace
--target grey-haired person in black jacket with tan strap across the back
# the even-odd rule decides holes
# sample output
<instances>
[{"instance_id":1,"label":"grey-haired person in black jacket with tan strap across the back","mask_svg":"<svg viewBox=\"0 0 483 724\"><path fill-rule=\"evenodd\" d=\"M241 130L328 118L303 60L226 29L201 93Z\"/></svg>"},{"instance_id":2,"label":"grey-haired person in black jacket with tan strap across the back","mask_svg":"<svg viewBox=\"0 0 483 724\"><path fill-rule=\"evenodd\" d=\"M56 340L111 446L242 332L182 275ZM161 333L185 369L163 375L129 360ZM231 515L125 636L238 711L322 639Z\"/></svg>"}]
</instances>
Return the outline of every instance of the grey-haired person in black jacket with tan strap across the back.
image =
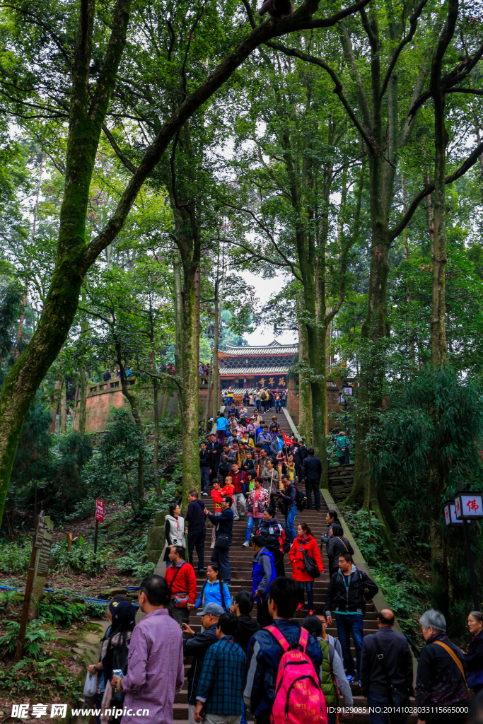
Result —
<instances>
[{"instance_id":1,"label":"grey-haired person in black jacket with tan strap across the back","mask_svg":"<svg viewBox=\"0 0 483 724\"><path fill-rule=\"evenodd\" d=\"M426 645L416 676L418 723L460 724L469 704L463 653L448 639L440 611L426 611L419 623Z\"/></svg>"}]
</instances>

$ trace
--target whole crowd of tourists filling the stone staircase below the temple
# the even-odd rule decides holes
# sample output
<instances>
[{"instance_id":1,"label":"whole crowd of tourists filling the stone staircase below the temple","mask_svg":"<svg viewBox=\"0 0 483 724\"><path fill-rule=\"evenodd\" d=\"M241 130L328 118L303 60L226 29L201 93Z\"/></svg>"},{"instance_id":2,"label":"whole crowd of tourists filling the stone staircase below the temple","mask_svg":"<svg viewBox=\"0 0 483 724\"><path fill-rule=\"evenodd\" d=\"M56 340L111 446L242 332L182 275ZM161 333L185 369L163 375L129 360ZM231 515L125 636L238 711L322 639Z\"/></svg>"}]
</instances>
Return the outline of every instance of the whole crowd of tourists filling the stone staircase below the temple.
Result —
<instances>
[{"instance_id":1,"label":"whole crowd of tourists filling the stone staircase below the temple","mask_svg":"<svg viewBox=\"0 0 483 724\"><path fill-rule=\"evenodd\" d=\"M189 493L185 517L176 503L169 507L167 568L140 584L143 618L135 623L125 596L109 602L109 628L98 662L89 666L97 676L98 724L135 724L140 710L148 712L147 724L172 724L185 677L190 724L245 724L248 716L256 724L337 724L353 715L351 687L357 685L370 724L406 724L411 696L419 724L463 722L470 690L476 703L483 690L483 613L468 616L471 643L464 653L448 638L442 613L421 616L425 645L413 688L413 656L395 630L394 612L379 610L377 631L363 636L366 602L378 586L356 567L337 511L328 511L320 542L306 521L295 527L298 513L311 508L312 493L320 508L320 460L287 437L276 418L267 426L257 415L249 429L252 419L243 405L228 418L220 413L218 434L201 444L201 494ZM208 494L214 513L203 500ZM252 586L233 596L233 524L243 518L243 547L253 550ZM324 607L316 607L323 547L329 584ZM195 563L206 576L199 591ZM304 608L306 618L298 618ZM194 611L199 631L190 626ZM327 631L333 623L337 637ZM483 691L481 697L483 707Z\"/></svg>"}]
</instances>

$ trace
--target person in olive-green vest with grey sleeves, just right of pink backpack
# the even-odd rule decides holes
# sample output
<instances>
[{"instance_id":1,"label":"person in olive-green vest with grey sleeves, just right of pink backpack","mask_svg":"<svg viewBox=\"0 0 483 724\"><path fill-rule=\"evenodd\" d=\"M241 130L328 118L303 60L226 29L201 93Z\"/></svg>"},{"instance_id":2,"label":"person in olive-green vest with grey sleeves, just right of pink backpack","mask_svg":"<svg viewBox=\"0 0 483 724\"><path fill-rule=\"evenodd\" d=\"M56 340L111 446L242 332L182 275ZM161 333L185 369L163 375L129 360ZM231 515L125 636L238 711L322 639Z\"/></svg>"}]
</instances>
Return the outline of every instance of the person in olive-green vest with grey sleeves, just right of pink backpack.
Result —
<instances>
[{"instance_id":1,"label":"person in olive-green vest with grey sleeves, just right of pink backpack","mask_svg":"<svg viewBox=\"0 0 483 724\"><path fill-rule=\"evenodd\" d=\"M324 693L325 703L327 704L328 724L335 724L337 721L337 707L340 706L339 691L344 699L344 707L346 709L353 707L352 691L350 691L350 684L345 676L343 660L335 647L329 641L322 639L322 621L316 615L306 616L302 626L319 641L322 649L320 688ZM345 716L351 715L346 714Z\"/></svg>"}]
</instances>

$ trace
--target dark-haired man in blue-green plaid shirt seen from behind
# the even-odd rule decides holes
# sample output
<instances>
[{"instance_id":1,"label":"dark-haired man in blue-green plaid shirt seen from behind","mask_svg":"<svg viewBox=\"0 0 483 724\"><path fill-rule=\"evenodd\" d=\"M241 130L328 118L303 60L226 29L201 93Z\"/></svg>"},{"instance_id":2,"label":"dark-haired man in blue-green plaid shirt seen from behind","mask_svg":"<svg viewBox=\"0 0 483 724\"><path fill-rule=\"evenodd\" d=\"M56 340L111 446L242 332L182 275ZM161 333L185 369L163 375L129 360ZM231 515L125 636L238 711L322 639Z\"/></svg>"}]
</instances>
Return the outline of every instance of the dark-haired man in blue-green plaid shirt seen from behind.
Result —
<instances>
[{"instance_id":1,"label":"dark-haired man in blue-green plaid shirt seen from behind","mask_svg":"<svg viewBox=\"0 0 483 724\"><path fill-rule=\"evenodd\" d=\"M196 722L240 724L246 656L233 639L237 626L234 613L219 617L219 640L206 652L196 690Z\"/></svg>"}]
</instances>

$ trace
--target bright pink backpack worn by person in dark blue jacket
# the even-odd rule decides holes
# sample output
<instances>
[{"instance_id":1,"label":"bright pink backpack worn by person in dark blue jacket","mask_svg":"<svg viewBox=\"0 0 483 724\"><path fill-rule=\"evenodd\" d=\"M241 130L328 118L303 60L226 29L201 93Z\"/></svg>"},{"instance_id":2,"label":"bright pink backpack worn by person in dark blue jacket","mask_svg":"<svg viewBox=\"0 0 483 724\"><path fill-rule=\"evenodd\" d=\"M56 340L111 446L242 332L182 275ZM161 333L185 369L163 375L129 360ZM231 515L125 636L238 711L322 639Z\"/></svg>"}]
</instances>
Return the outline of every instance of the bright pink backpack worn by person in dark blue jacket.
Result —
<instances>
[{"instance_id":1,"label":"bright pink backpack worn by person in dark blue jacket","mask_svg":"<svg viewBox=\"0 0 483 724\"><path fill-rule=\"evenodd\" d=\"M277 626L266 626L284 650L277 671L271 724L327 724L327 705L314 664L306 654L308 631L292 649Z\"/></svg>"}]
</instances>

